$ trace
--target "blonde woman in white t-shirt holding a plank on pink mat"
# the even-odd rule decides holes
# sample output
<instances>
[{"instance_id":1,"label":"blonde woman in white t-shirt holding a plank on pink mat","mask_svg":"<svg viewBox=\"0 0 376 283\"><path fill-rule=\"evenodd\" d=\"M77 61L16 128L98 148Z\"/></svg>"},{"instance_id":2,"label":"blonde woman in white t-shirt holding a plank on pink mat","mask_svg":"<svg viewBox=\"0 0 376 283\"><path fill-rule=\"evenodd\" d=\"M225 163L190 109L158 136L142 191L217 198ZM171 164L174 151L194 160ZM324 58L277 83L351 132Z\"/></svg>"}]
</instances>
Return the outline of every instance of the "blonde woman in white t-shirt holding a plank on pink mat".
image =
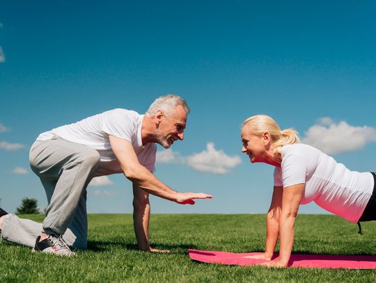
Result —
<instances>
[{"instance_id":1,"label":"blonde woman in white t-shirt holding a plank on pink mat","mask_svg":"<svg viewBox=\"0 0 376 283\"><path fill-rule=\"evenodd\" d=\"M265 252L256 256L272 259L279 238L279 259L269 261L267 266L288 266L300 204L314 201L354 223L376 220L375 173L348 170L319 149L300 143L293 129L281 131L266 115L244 121L242 143L242 152L251 163L275 166Z\"/></svg>"}]
</instances>

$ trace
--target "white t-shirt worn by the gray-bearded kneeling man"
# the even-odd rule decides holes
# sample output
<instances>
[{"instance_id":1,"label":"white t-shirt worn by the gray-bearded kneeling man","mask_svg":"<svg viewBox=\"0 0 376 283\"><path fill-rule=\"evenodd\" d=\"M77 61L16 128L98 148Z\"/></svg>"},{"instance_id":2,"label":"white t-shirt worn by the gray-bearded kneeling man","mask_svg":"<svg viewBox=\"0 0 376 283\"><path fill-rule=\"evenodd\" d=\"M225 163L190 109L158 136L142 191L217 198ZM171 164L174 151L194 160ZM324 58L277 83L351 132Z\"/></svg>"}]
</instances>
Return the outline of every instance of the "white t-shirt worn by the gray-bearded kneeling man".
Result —
<instances>
[{"instance_id":1,"label":"white t-shirt worn by the gray-bearded kneeling man","mask_svg":"<svg viewBox=\"0 0 376 283\"><path fill-rule=\"evenodd\" d=\"M49 140L58 136L63 140L96 149L100 154L100 168L95 176L101 176L123 172L109 142L109 135L116 136L130 141L139 163L150 172L155 172L157 147L155 143L142 144L142 121L143 115L117 108L52 129L40 134L37 140Z\"/></svg>"}]
</instances>

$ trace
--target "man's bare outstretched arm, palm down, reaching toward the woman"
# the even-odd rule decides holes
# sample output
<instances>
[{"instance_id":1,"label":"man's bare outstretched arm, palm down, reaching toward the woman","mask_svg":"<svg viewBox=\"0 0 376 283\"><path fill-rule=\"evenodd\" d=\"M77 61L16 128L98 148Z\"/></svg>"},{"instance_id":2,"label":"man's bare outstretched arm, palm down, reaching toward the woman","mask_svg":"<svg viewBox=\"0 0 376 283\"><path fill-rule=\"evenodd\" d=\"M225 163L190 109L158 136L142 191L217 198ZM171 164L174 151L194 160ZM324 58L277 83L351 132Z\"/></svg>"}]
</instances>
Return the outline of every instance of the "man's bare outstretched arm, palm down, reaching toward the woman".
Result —
<instances>
[{"instance_id":1,"label":"man's bare outstretched arm, palm down, reaching toward the woman","mask_svg":"<svg viewBox=\"0 0 376 283\"><path fill-rule=\"evenodd\" d=\"M116 155L125 177L130 179L134 186L144 191L179 204L194 204L194 199L212 198L205 193L180 193L173 191L169 186L159 181L148 169L139 163L132 143L122 138L109 136L113 153Z\"/></svg>"}]
</instances>

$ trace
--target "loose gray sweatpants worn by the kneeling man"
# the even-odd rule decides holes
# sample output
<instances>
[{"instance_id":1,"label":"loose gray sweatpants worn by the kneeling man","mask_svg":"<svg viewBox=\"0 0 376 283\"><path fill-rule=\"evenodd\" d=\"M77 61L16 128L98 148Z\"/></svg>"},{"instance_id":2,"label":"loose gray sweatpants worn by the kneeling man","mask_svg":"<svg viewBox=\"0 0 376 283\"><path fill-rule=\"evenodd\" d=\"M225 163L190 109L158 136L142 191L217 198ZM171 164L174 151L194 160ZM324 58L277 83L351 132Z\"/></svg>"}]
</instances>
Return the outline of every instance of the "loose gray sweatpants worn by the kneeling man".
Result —
<instances>
[{"instance_id":1,"label":"loose gray sweatpants worn by the kneeling man","mask_svg":"<svg viewBox=\"0 0 376 283\"><path fill-rule=\"evenodd\" d=\"M14 243L33 247L41 232L61 234L72 248L87 246L86 187L99 168L100 154L67 140L36 141L30 149L30 165L47 195L43 223L9 214L1 234Z\"/></svg>"}]
</instances>

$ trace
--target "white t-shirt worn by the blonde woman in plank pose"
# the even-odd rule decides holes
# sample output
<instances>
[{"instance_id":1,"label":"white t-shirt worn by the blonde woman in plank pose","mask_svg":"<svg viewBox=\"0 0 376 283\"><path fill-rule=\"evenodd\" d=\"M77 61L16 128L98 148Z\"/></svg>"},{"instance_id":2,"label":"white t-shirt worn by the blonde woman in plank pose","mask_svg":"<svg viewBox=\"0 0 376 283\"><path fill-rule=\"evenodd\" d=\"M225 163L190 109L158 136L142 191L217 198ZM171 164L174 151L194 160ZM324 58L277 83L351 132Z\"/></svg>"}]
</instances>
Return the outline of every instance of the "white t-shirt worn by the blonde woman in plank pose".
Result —
<instances>
[{"instance_id":1,"label":"white t-shirt worn by the blonde woman in plank pose","mask_svg":"<svg viewBox=\"0 0 376 283\"><path fill-rule=\"evenodd\" d=\"M345 220L358 222L373 193L370 172L356 172L319 149L296 143L281 147L281 168L274 170L274 186L306 184L301 204L315 202Z\"/></svg>"}]
</instances>

